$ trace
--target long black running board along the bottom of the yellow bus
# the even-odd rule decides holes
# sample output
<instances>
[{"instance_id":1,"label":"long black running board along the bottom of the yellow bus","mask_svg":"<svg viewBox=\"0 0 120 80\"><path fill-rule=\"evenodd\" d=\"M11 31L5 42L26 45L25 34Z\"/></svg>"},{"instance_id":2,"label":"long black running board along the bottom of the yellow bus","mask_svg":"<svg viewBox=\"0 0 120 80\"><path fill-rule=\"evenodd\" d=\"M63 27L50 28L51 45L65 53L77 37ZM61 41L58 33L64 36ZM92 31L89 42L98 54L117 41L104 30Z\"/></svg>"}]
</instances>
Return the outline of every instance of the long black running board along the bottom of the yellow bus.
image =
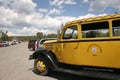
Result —
<instances>
[{"instance_id":1,"label":"long black running board along the bottom of the yellow bus","mask_svg":"<svg viewBox=\"0 0 120 80\"><path fill-rule=\"evenodd\" d=\"M98 72L98 71L89 71L89 70L68 70L64 68L55 69L55 71L65 72L80 76L87 76L87 77L94 77L94 78L103 78L103 79L113 79L113 80L120 80L120 74L108 73L108 72Z\"/></svg>"}]
</instances>

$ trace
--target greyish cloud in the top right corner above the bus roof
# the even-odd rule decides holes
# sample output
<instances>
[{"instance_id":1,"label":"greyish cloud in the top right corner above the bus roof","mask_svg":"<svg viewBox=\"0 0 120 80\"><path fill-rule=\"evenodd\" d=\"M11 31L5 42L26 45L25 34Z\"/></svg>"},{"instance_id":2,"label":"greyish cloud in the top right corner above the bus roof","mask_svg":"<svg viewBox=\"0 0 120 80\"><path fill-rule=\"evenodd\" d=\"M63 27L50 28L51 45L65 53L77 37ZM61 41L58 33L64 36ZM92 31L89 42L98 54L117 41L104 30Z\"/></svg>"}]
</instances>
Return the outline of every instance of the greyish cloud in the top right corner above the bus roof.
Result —
<instances>
[{"instance_id":1,"label":"greyish cloud in the top right corner above the bus roof","mask_svg":"<svg viewBox=\"0 0 120 80\"><path fill-rule=\"evenodd\" d=\"M90 11L103 11L107 7L114 7L120 10L120 0L93 0L90 3Z\"/></svg>"}]
</instances>

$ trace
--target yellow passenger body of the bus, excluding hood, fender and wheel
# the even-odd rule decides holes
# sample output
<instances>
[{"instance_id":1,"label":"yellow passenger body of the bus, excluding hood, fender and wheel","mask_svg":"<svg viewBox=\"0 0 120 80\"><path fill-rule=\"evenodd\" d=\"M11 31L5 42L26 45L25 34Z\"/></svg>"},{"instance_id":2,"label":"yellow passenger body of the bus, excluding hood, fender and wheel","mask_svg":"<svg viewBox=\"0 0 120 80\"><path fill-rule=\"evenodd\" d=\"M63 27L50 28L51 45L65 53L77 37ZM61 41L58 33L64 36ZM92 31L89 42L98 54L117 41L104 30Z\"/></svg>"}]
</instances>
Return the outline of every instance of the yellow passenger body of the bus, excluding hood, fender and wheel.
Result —
<instances>
[{"instance_id":1,"label":"yellow passenger body of the bus, excluding hood, fender and wheel","mask_svg":"<svg viewBox=\"0 0 120 80\"><path fill-rule=\"evenodd\" d=\"M58 42L63 63L120 69L120 14L69 22Z\"/></svg>"}]
</instances>

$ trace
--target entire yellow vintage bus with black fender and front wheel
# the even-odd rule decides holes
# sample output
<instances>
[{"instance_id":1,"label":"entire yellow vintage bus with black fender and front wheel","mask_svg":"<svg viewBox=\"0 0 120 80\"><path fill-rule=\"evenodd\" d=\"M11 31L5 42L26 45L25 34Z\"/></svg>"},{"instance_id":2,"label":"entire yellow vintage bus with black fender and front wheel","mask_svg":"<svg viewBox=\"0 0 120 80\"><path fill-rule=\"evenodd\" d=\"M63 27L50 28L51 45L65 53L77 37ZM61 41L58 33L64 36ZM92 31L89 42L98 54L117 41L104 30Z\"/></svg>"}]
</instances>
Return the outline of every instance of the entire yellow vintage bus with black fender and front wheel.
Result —
<instances>
[{"instance_id":1,"label":"entire yellow vintage bus with black fender and front wheel","mask_svg":"<svg viewBox=\"0 0 120 80\"><path fill-rule=\"evenodd\" d=\"M41 75L54 69L113 79L106 72L120 71L120 14L68 22L58 40L46 41L30 59ZM120 74L114 77L120 79Z\"/></svg>"}]
</instances>

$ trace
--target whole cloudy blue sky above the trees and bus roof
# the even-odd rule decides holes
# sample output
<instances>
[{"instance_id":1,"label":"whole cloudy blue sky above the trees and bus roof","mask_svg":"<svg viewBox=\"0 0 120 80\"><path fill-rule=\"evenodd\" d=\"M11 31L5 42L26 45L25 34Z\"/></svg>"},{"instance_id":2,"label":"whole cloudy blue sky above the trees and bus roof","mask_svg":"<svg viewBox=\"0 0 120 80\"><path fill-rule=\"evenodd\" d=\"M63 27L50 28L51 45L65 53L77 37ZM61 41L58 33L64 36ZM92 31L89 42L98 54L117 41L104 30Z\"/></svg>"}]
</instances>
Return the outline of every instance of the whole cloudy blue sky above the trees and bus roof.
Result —
<instances>
[{"instance_id":1,"label":"whole cloudy blue sky above the trees and bus roof","mask_svg":"<svg viewBox=\"0 0 120 80\"><path fill-rule=\"evenodd\" d=\"M68 21L115 12L119 0L0 0L0 30L8 36L57 33Z\"/></svg>"}]
</instances>

